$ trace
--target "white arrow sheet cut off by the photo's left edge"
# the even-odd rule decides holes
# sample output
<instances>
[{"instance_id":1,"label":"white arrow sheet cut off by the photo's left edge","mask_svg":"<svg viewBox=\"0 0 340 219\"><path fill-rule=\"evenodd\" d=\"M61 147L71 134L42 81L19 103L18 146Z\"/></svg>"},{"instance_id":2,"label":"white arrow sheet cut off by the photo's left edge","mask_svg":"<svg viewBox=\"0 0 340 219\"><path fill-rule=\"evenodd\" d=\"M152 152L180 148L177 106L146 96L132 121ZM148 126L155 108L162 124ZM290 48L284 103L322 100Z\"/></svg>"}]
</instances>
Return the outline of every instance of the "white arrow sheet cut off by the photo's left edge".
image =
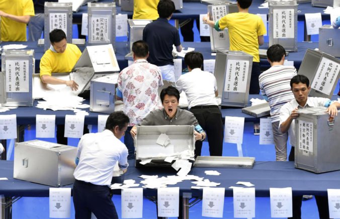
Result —
<instances>
[{"instance_id":1,"label":"white arrow sheet cut off by the photo's left edge","mask_svg":"<svg viewBox=\"0 0 340 219\"><path fill-rule=\"evenodd\" d=\"M0 115L0 139L17 138L17 115Z\"/></svg>"}]
</instances>

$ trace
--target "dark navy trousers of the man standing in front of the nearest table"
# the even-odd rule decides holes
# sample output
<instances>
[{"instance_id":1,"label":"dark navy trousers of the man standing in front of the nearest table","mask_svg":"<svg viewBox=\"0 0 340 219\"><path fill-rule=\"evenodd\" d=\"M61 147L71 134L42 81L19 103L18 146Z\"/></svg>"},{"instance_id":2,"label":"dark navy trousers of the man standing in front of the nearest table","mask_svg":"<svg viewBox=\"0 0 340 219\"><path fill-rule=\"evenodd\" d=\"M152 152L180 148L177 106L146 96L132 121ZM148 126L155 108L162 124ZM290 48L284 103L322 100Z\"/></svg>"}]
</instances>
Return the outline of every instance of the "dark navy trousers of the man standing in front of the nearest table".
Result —
<instances>
[{"instance_id":1,"label":"dark navy trousers of the man standing in front of the nearest table","mask_svg":"<svg viewBox=\"0 0 340 219\"><path fill-rule=\"evenodd\" d=\"M98 219L118 219L112 202L111 189L75 180L73 184L73 204L76 219L91 219L91 212Z\"/></svg>"}]
</instances>

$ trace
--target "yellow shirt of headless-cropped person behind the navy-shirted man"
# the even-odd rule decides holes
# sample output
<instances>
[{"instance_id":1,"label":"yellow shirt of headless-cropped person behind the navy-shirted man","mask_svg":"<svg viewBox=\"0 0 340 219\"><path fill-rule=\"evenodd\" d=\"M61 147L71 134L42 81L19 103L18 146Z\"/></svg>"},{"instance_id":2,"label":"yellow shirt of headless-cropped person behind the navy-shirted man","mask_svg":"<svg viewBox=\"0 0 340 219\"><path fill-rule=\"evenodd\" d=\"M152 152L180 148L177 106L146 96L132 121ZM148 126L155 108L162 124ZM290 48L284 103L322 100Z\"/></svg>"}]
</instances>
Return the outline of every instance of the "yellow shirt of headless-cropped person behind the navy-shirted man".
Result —
<instances>
[{"instance_id":1,"label":"yellow shirt of headless-cropped person behind the navy-shirted man","mask_svg":"<svg viewBox=\"0 0 340 219\"><path fill-rule=\"evenodd\" d=\"M159 0L133 1L133 19L156 20L158 16L157 5Z\"/></svg>"}]
</instances>

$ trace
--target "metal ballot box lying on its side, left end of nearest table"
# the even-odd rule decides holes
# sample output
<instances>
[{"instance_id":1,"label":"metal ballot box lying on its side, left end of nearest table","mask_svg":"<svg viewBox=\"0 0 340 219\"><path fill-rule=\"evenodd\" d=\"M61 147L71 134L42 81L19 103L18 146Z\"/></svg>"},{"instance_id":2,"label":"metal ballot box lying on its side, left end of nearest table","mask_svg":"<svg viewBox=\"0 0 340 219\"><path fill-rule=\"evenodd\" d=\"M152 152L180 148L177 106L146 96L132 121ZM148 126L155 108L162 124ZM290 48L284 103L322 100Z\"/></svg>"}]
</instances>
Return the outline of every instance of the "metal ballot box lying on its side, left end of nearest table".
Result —
<instances>
[{"instance_id":1,"label":"metal ballot box lying on its side, left end of nearest table","mask_svg":"<svg viewBox=\"0 0 340 219\"><path fill-rule=\"evenodd\" d=\"M13 177L55 187L72 184L76 153L76 147L42 140L17 142Z\"/></svg>"}]
</instances>

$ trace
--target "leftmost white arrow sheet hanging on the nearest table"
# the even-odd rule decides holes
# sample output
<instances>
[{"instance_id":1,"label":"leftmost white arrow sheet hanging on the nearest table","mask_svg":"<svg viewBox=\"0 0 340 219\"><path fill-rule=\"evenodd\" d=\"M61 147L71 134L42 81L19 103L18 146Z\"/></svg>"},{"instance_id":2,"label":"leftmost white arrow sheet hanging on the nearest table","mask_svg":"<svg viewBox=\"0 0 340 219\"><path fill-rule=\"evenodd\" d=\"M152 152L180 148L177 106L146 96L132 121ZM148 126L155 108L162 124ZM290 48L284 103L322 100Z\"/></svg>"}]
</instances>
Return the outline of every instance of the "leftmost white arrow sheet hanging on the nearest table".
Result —
<instances>
[{"instance_id":1,"label":"leftmost white arrow sheet hanging on the nearest table","mask_svg":"<svg viewBox=\"0 0 340 219\"><path fill-rule=\"evenodd\" d=\"M71 212L71 188L50 188L50 217L68 218Z\"/></svg>"}]
</instances>

